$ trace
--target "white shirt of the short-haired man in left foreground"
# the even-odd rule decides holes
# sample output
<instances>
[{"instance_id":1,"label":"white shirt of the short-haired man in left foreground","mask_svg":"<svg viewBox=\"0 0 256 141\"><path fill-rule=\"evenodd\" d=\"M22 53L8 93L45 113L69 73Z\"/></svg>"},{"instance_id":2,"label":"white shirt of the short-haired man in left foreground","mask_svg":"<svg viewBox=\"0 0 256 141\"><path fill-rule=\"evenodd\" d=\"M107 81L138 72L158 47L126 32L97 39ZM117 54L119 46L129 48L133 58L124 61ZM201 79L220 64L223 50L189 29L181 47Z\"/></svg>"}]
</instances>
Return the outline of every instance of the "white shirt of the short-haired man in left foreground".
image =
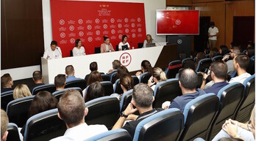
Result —
<instances>
[{"instance_id":1,"label":"white shirt of the short-haired man in left foreground","mask_svg":"<svg viewBox=\"0 0 256 141\"><path fill-rule=\"evenodd\" d=\"M87 123L82 123L78 126L72 127L71 129L67 129L63 136L51 139L51 141L58 141L58 140L60 141L69 141L69 140L80 141L81 140L82 141L107 131L108 131L107 127L104 125L88 126Z\"/></svg>"}]
</instances>

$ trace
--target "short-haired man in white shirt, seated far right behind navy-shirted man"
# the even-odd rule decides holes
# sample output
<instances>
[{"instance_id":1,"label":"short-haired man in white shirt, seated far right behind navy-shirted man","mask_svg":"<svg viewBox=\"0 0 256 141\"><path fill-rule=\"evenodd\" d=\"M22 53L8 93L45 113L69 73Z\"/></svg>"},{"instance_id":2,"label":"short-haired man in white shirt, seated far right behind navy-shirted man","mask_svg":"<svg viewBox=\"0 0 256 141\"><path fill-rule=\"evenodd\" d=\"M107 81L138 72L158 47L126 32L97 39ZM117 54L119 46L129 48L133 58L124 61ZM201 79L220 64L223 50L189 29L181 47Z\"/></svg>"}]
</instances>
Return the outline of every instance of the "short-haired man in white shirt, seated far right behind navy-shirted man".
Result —
<instances>
[{"instance_id":1,"label":"short-haired man in white shirt, seated far right behind navy-shirted man","mask_svg":"<svg viewBox=\"0 0 256 141\"><path fill-rule=\"evenodd\" d=\"M238 55L234 58L234 68L238 72L237 77L233 77L230 80L230 83L243 83L246 78L250 77L251 75L246 72L246 68L249 65L249 57L246 55Z\"/></svg>"}]
</instances>

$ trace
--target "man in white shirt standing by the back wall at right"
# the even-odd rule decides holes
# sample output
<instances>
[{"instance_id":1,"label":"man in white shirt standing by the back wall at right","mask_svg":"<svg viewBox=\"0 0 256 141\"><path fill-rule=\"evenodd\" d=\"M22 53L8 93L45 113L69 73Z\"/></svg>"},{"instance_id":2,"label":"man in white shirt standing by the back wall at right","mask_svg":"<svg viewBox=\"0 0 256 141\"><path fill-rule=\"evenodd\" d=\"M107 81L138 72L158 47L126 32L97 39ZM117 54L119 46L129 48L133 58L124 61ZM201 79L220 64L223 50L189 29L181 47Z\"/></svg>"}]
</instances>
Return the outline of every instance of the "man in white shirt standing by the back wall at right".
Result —
<instances>
[{"instance_id":1,"label":"man in white shirt standing by the back wall at right","mask_svg":"<svg viewBox=\"0 0 256 141\"><path fill-rule=\"evenodd\" d=\"M208 37L209 47L210 49L213 49L213 47L216 47L218 37L218 28L216 28L214 22L210 22L210 28L208 29Z\"/></svg>"}]
</instances>

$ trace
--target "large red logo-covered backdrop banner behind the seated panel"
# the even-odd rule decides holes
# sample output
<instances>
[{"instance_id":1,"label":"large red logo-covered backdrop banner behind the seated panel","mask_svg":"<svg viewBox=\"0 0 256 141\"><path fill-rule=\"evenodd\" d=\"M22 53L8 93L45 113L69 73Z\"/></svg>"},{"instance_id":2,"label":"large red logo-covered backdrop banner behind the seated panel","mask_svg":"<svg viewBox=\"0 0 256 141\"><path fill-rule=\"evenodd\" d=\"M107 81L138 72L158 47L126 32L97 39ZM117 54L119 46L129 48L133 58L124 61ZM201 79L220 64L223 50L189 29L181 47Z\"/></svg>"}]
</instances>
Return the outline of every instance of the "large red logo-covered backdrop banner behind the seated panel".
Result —
<instances>
[{"instance_id":1,"label":"large red logo-covered backdrop banner behind the seated panel","mask_svg":"<svg viewBox=\"0 0 256 141\"><path fill-rule=\"evenodd\" d=\"M126 34L131 47L146 39L143 3L51 0L52 38L63 57L70 56L76 39L82 40L86 54L110 38L115 48Z\"/></svg>"}]
</instances>

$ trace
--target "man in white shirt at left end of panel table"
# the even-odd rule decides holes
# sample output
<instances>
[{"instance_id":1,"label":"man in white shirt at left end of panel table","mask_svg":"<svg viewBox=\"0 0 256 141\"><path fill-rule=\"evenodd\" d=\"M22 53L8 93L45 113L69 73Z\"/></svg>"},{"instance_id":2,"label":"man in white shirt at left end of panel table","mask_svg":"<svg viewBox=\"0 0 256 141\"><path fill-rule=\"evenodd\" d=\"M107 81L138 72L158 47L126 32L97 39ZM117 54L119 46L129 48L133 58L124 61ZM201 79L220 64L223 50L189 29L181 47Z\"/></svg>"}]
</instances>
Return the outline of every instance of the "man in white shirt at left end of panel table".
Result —
<instances>
[{"instance_id":1,"label":"man in white shirt at left end of panel table","mask_svg":"<svg viewBox=\"0 0 256 141\"><path fill-rule=\"evenodd\" d=\"M51 47L47 48L43 53L43 58L54 59L62 58L63 54L61 53L60 47L57 47L56 41L51 41Z\"/></svg>"}]
</instances>

